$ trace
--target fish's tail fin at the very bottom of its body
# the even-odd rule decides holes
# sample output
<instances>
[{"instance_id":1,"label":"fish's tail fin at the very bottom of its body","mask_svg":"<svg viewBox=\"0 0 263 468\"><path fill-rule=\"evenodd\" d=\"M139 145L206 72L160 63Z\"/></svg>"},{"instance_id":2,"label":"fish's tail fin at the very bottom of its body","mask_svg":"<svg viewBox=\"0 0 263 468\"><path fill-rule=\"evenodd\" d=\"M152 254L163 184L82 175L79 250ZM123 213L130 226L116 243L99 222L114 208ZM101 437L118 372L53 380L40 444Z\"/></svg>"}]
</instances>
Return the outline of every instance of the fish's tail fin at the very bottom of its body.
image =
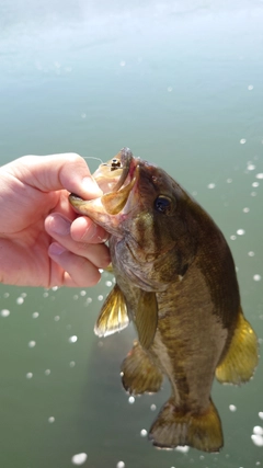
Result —
<instances>
[{"instance_id":1,"label":"fish's tail fin at the very bottom of its body","mask_svg":"<svg viewBox=\"0 0 263 468\"><path fill-rule=\"evenodd\" d=\"M224 445L220 418L211 400L206 411L191 413L175 408L171 398L153 422L149 438L160 448L188 445L203 452L218 452Z\"/></svg>"}]
</instances>

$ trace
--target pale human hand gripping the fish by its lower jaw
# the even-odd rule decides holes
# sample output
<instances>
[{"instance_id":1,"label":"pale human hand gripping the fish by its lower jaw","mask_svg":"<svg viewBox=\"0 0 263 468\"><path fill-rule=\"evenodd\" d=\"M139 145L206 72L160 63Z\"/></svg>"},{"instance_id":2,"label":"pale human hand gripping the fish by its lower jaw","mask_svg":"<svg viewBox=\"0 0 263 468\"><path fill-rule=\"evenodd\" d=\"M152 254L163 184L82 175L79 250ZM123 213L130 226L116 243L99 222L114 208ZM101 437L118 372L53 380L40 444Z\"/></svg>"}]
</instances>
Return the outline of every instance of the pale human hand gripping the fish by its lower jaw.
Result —
<instances>
[{"instance_id":1,"label":"pale human hand gripping the fish by its lower jaw","mask_svg":"<svg viewBox=\"0 0 263 468\"><path fill-rule=\"evenodd\" d=\"M78 216L70 192L102 192L78 155L25 156L0 168L0 282L18 286L95 285L110 263L107 232Z\"/></svg>"}]
</instances>

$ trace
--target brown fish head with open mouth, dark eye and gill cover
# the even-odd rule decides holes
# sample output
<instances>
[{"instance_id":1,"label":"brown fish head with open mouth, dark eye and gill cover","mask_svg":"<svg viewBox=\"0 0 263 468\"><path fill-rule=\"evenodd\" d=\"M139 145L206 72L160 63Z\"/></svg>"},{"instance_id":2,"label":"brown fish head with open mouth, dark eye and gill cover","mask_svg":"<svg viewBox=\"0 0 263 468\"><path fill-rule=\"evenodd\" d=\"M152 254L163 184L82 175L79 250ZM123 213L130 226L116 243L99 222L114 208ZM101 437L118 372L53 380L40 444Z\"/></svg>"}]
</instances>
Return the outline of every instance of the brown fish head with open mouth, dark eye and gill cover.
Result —
<instances>
[{"instance_id":1,"label":"brown fish head with open mouth, dark eye and gill cover","mask_svg":"<svg viewBox=\"0 0 263 468\"><path fill-rule=\"evenodd\" d=\"M93 178L104 192L100 198L71 194L69 201L112 235L113 264L150 290L183 276L194 248L185 209L188 195L180 185L128 148L101 164Z\"/></svg>"}]
</instances>

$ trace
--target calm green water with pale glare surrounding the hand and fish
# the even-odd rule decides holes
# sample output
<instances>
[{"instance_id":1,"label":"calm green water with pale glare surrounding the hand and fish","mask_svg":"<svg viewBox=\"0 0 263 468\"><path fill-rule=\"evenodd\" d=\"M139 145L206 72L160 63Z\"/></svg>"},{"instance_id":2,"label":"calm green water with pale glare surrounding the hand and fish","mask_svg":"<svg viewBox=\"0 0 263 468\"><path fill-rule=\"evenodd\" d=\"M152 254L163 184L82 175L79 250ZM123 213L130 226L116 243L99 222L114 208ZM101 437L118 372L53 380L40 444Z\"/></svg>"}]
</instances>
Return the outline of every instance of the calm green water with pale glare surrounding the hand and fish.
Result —
<instances>
[{"instance_id":1,"label":"calm green water with pale glare surrounding the hand and fish","mask_svg":"<svg viewBox=\"0 0 263 468\"><path fill-rule=\"evenodd\" d=\"M261 341L262 24L260 0L0 3L1 163L64 151L107 160L128 146L162 165L226 235ZM69 468L80 453L92 468L263 466L251 438L263 426L262 362L248 385L214 385L220 454L152 448L141 430L169 386L129 402L119 364L133 328L93 335L107 281L87 290L1 286L10 315L0 316L0 466Z\"/></svg>"}]
</instances>

